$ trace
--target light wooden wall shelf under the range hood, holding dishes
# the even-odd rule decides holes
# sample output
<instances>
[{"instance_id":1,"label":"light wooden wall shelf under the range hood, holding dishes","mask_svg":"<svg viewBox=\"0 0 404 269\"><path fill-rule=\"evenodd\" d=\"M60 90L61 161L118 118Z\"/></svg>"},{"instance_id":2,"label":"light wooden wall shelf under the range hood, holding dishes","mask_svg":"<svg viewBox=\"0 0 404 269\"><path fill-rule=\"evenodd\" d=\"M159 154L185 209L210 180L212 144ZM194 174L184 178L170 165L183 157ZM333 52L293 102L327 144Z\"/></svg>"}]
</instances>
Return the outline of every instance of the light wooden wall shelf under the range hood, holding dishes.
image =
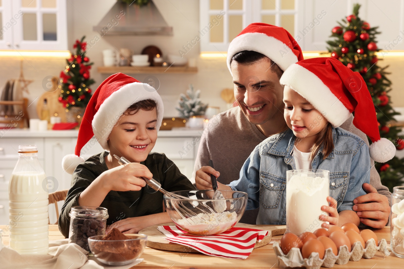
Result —
<instances>
[{"instance_id":1,"label":"light wooden wall shelf under the range hood, holding dishes","mask_svg":"<svg viewBox=\"0 0 404 269\"><path fill-rule=\"evenodd\" d=\"M101 74L183 74L183 73L197 73L198 67L187 67L187 66L146 66L146 67L134 67L134 66L99 66L97 68L98 73Z\"/></svg>"}]
</instances>

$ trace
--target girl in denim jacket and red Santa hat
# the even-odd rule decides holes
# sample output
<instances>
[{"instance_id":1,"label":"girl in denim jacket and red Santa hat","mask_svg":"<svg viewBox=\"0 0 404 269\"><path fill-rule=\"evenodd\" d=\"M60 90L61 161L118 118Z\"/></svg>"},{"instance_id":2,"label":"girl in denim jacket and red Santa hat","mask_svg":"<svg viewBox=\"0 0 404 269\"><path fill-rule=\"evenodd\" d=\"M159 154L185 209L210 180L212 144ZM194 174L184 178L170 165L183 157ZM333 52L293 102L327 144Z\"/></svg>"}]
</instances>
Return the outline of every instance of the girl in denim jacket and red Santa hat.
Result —
<instances>
[{"instance_id":1,"label":"girl in denim jacket and red Santa hat","mask_svg":"<svg viewBox=\"0 0 404 269\"><path fill-rule=\"evenodd\" d=\"M395 154L394 145L380 139L366 83L333 58L301 60L286 69L280 83L285 85L284 118L290 129L261 142L244 163L240 179L228 186L218 184L219 189L247 192L247 209L259 208L257 224L286 224L286 171L328 170L330 206L321 209L329 216L319 219L359 225L353 199L366 194L362 184L369 183L370 156L385 162ZM374 142L370 154L361 138L338 127L352 112L353 124ZM219 176L211 167L197 171L197 188L211 188L210 173Z\"/></svg>"}]
</instances>

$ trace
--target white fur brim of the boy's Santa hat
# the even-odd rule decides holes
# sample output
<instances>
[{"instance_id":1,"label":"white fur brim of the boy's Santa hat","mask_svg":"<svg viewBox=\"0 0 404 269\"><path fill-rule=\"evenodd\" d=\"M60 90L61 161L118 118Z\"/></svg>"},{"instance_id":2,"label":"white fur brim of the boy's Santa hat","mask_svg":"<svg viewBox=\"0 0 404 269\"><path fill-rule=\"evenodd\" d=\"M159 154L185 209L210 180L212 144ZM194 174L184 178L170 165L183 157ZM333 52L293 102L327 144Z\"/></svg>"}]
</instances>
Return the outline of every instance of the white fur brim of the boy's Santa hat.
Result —
<instances>
[{"instance_id":1,"label":"white fur brim of the boy's Santa hat","mask_svg":"<svg viewBox=\"0 0 404 269\"><path fill-rule=\"evenodd\" d=\"M99 107L95 113L93 122L94 136L104 150L109 151L107 138L114 125L129 106L142 100L151 99L157 105L157 131L163 120L163 101L157 90L147 83L133 82L122 86L113 92Z\"/></svg>"}]
</instances>

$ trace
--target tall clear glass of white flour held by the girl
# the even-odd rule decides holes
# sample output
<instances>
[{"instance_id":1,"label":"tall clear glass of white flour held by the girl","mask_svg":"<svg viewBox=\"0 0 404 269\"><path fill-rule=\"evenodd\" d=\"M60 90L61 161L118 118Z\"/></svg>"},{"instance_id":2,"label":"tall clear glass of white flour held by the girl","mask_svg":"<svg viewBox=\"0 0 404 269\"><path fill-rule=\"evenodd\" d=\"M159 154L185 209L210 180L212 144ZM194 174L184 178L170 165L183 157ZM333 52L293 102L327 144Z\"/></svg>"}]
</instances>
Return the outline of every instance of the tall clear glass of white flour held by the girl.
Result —
<instances>
[{"instance_id":1,"label":"tall clear glass of white flour held by the girl","mask_svg":"<svg viewBox=\"0 0 404 269\"><path fill-rule=\"evenodd\" d=\"M326 221L318 219L328 213L321 206L328 205L330 171L299 169L286 171L286 232L299 236L314 232Z\"/></svg>"}]
</instances>

